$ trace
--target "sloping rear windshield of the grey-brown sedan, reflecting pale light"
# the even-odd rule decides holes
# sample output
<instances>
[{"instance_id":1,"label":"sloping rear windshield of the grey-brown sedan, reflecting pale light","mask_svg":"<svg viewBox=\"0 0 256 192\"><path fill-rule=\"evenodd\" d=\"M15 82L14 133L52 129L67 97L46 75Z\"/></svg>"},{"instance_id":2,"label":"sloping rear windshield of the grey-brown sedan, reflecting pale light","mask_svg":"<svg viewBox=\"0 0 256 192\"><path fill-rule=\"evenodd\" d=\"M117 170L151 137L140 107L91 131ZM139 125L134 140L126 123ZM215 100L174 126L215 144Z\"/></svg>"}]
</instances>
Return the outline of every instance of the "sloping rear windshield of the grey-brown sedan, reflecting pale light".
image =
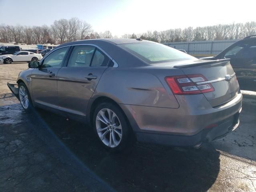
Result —
<instances>
[{"instance_id":1,"label":"sloping rear windshield of the grey-brown sedan, reflecting pale light","mask_svg":"<svg viewBox=\"0 0 256 192\"><path fill-rule=\"evenodd\" d=\"M192 60L193 56L159 43L130 43L120 47L148 63Z\"/></svg>"}]
</instances>

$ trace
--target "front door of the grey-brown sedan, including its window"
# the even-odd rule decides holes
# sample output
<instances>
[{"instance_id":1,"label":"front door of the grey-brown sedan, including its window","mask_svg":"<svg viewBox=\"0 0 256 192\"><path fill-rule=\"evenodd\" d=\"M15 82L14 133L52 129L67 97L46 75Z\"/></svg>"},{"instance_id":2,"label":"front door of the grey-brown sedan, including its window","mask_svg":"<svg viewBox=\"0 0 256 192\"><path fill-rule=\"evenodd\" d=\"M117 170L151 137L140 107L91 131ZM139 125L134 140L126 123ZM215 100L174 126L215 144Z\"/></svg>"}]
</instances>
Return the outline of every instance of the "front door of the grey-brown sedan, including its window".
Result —
<instances>
[{"instance_id":1,"label":"front door of the grey-brown sedan, including its window","mask_svg":"<svg viewBox=\"0 0 256 192\"><path fill-rule=\"evenodd\" d=\"M58 108L57 74L69 47L55 50L40 62L40 68L31 74L32 94L36 104Z\"/></svg>"}]
</instances>

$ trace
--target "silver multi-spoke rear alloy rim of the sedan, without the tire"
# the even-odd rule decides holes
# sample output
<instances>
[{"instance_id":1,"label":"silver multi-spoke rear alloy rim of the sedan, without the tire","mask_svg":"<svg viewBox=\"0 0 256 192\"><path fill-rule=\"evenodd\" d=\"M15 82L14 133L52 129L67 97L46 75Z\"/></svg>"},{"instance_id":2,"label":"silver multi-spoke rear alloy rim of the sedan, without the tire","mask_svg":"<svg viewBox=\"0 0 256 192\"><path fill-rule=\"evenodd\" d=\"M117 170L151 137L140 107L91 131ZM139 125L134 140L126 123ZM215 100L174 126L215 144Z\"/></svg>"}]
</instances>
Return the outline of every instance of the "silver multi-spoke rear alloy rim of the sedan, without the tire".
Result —
<instances>
[{"instance_id":1,"label":"silver multi-spoke rear alloy rim of the sedan, without the tire","mask_svg":"<svg viewBox=\"0 0 256 192\"><path fill-rule=\"evenodd\" d=\"M96 130L100 140L108 147L118 146L122 139L122 125L118 116L110 109L100 110L96 116Z\"/></svg>"}]
</instances>

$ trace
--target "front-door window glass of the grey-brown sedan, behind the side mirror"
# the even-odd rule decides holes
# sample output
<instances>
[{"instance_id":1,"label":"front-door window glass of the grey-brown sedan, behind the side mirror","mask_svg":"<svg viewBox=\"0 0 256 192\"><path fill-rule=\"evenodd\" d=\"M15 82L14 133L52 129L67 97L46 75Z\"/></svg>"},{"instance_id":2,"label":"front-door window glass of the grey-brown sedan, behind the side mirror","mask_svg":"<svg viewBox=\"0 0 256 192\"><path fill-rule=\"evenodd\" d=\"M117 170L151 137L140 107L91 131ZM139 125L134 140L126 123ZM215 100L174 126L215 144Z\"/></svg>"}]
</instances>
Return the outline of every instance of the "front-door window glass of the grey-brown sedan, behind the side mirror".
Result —
<instances>
[{"instance_id":1,"label":"front-door window glass of the grey-brown sedan, behind the side mirror","mask_svg":"<svg viewBox=\"0 0 256 192\"><path fill-rule=\"evenodd\" d=\"M42 68L46 67L60 67L62 62L64 62L64 58L66 52L68 51L69 47L60 48L51 54L49 54L44 60Z\"/></svg>"}]
</instances>

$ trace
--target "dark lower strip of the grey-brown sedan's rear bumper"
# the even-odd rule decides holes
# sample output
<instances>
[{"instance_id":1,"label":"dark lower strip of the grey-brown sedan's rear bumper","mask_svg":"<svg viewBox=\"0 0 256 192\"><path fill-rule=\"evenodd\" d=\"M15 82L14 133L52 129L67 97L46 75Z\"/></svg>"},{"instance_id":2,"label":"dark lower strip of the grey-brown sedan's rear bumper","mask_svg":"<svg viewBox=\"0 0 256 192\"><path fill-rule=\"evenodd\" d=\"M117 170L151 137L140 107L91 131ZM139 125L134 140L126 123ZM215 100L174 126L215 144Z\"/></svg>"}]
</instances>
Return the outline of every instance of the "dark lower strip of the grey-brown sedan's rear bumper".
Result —
<instances>
[{"instance_id":1,"label":"dark lower strip of the grey-brown sedan's rear bumper","mask_svg":"<svg viewBox=\"0 0 256 192\"><path fill-rule=\"evenodd\" d=\"M154 143L170 146L200 146L203 142L210 142L222 138L234 131L239 125L240 111L236 113L234 117L229 118L226 122L220 122L220 125L213 128L204 129L198 134L192 136L136 132L137 140L144 143ZM232 125L226 126L229 121L233 121Z\"/></svg>"}]
</instances>

